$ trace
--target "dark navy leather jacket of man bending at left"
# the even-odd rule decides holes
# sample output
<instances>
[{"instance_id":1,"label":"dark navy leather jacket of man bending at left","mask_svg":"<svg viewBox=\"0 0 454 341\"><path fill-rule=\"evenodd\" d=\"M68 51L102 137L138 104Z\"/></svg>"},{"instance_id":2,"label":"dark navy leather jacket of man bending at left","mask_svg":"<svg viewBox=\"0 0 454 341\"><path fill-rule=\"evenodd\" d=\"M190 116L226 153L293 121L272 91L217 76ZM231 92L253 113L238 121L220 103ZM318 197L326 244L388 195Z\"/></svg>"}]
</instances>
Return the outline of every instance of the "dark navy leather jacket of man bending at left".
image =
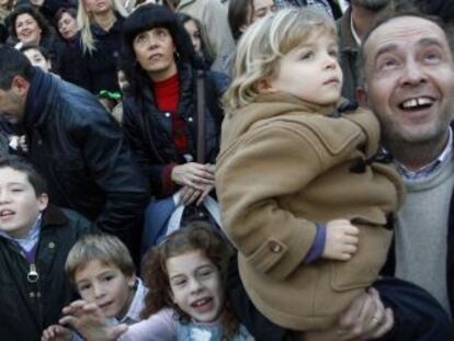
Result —
<instances>
[{"instance_id":1,"label":"dark navy leather jacket of man bending at left","mask_svg":"<svg viewBox=\"0 0 454 341\"><path fill-rule=\"evenodd\" d=\"M36 69L24 129L27 158L45 177L50 202L80 212L132 248L148 184L120 126L97 98Z\"/></svg>"}]
</instances>

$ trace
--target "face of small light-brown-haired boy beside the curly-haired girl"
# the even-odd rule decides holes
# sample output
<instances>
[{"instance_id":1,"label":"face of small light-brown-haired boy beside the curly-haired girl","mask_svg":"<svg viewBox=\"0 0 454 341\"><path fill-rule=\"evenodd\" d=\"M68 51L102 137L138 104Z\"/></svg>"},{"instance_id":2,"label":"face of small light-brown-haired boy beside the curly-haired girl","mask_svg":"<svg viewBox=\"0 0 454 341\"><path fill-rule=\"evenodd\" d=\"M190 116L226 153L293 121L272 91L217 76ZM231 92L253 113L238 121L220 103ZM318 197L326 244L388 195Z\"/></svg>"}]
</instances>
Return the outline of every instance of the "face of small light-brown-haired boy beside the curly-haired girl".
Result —
<instances>
[{"instance_id":1,"label":"face of small light-brown-haired boy beside the curly-haired girl","mask_svg":"<svg viewBox=\"0 0 454 341\"><path fill-rule=\"evenodd\" d=\"M125 275L117 266L93 260L75 273L80 296L95 303L105 317L123 318L134 298L135 275Z\"/></svg>"}]
</instances>

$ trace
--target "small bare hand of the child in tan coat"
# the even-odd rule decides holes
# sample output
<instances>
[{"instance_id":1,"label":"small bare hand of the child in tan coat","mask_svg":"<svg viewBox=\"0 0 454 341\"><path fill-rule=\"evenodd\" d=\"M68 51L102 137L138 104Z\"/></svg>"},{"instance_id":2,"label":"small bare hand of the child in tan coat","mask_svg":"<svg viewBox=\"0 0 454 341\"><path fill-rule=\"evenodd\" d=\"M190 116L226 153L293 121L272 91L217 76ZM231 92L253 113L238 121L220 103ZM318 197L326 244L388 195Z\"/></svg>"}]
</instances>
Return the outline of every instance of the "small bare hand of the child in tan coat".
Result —
<instances>
[{"instance_id":1,"label":"small bare hand of the child in tan coat","mask_svg":"<svg viewBox=\"0 0 454 341\"><path fill-rule=\"evenodd\" d=\"M356 252L357 235L357 227L347 219L329 221L322 258L348 261Z\"/></svg>"}]
</instances>

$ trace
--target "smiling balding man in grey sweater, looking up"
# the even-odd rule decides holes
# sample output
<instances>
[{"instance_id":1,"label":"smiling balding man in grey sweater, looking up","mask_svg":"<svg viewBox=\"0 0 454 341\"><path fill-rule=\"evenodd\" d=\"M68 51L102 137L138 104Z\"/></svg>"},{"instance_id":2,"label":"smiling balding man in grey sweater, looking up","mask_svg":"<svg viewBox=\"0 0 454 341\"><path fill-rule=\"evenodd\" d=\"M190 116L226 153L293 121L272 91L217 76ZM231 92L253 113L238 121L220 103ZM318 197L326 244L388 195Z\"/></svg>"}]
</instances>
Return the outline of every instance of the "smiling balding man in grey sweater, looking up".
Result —
<instances>
[{"instance_id":1,"label":"smiling balding man in grey sweater, looking up","mask_svg":"<svg viewBox=\"0 0 454 341\"><path fill-rule=\"evenodd\" d=\"M365 37L359 99L382 123L408 197L397 217L389 270L454 308L454 61L433 19L398 14Z\"/></svg>"}]
</instances>

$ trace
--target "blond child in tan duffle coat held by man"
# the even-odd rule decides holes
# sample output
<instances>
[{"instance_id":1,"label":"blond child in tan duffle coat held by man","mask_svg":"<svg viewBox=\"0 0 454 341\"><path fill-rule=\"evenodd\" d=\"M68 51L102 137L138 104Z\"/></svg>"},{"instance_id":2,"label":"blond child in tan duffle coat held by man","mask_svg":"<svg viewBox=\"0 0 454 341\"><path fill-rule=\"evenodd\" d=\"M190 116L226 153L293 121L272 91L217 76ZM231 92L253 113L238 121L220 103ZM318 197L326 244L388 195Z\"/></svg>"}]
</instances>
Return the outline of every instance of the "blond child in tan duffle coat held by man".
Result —
<instances>
[{"instance_id":1,"label":"blond child in tan duffle coat held by man","mask_svg":"<svg viewBox=\"0 0 454 341\"><path fill-rule=\"evenodd\" d=\"M377 279L402 198L377 120L343 104L341 87L334 23L286 9L243 34L225 96L224 228L249 297L291 330L332 328Z\"/></svg>"}]
</instances>

